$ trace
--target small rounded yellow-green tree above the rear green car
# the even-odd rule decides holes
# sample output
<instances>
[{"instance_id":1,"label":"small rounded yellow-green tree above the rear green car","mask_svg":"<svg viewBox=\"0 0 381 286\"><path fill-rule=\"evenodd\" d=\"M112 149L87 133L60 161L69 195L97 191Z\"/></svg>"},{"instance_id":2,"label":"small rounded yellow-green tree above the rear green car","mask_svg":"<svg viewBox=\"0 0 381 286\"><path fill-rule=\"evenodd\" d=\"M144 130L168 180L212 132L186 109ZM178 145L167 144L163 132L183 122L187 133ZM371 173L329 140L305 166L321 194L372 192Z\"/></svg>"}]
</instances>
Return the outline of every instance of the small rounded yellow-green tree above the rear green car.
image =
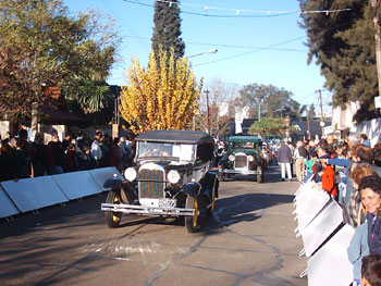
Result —
<instances>
[{"instance_id":1,"label":"small rounded yellow-green tree above the rear green car","mask_svg":"<svg viewBox=\"0 0 381 286\"><path fill-rule=\"evenodd\" d=\"M249 134L259 134L262 138L269 135L282 135L288 126L282 119L262 117L256 121L248 129Z\"/></svg>"}]
</instances>

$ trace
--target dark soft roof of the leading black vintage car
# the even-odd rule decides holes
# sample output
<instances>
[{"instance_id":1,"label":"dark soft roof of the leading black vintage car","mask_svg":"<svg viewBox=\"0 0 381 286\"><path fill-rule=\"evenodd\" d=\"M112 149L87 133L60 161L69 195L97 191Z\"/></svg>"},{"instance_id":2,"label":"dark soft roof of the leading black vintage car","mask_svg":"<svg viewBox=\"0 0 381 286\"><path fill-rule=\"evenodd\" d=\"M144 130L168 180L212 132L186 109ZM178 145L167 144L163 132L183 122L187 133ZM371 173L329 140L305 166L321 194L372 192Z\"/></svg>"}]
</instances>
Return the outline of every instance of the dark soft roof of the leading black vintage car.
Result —
<instances>
[{"instance_id":1,"label":"dark soft roof of the leading black vintage car","mask_svg":"<svg viewBox=\"0 0 381 286\"><path fill-rule=\"evenodd\" d=\"M213 137L205 132L193 130L150 130L135 137L137 141L213 144Z\"/></svg>"}]
</instances>

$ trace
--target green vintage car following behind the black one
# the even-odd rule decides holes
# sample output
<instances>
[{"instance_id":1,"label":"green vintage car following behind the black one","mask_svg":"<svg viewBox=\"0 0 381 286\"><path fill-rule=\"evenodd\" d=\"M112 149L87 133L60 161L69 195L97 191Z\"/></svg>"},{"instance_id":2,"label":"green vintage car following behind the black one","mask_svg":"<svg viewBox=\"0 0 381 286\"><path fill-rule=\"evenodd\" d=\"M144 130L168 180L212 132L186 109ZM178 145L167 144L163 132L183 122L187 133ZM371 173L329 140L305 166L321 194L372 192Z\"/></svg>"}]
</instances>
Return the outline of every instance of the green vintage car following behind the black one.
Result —
<instances>
[{"instance_id":1,"label":"green vintage car following behind the black one","mask_svg":"<svg viewBox=\"0 0 381 286\"><path fill-rule=\"evenodd\" d=\"M230 175L257 175L257 182L265 178L266 160L262 158L262 140L255 136L232 136L228 152L219 163L220 179Z\"/></svg>"}]
</instances>

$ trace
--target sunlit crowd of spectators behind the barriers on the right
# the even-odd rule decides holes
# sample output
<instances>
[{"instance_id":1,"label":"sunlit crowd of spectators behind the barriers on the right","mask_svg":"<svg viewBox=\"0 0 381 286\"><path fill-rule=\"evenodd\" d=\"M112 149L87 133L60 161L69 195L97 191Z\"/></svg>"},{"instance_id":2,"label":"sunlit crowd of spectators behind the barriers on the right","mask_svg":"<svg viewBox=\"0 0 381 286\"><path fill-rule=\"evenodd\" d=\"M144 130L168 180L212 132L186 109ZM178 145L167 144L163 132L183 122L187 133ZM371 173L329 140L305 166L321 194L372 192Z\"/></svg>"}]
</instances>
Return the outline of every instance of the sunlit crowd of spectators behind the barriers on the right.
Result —
<instances>
[{"instance_id":1,"label":"sunlit crowd of spectators behind the barriers on the right","mask_svg":"<svg viewBox=\"0 0 381 286\"><path fill-rule=\"evenodd\" d=\"M343 208L343 220L355 228L348 248L353 285L381 285L381 144L370 147L365 134L333 135L316 141L282 142L278 150L282 181L309 181ZM287 173L287 177L286 177ZM371 265L371 266L370 266Z\"/></svg>"}]
</instances>

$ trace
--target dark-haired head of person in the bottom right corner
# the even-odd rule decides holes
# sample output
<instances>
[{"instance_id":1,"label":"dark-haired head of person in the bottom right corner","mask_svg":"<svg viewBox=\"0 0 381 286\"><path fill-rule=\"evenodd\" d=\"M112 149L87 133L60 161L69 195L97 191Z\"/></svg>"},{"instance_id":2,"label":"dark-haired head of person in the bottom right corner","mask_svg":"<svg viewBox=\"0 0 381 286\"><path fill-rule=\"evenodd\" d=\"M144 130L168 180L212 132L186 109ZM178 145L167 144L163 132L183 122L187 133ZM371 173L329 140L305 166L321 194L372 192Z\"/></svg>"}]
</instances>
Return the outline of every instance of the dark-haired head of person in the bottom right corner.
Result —
<instances>
[{"instance_id":1,"label":"dark-haired head of person in the bottom right corner","mask_svg":"<svg viewBox=\"0 0 381 286\"><path fill-rule=\"evenodd\" d=\"M381 256L366 256L361 265L361 286L381 286Z\"/></svg>"}]
</instances>

